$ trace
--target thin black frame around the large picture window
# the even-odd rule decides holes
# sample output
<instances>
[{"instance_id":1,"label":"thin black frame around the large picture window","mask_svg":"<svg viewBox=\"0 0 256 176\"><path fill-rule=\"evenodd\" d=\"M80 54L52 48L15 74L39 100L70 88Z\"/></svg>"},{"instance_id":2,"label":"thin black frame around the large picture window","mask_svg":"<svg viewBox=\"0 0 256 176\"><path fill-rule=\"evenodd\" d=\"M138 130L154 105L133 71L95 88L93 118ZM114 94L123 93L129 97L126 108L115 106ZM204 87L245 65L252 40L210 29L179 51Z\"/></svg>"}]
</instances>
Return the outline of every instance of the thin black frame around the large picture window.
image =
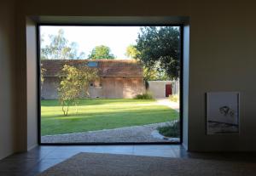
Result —
<instances>
[{"instance_id":1,"label":"thin black frame around the large picture window","mask_svg":"<svg viewBox=\"0 0 256 176\"><path fill-rule=\"evenodd\" d=\"M41 60L40 60L40 26L178 26L180 29L180 77L179 77L179 142L116 142L116 143L42 143L41 141ZM37 23L37 69L38 69L38 145L182 145L183 144L183 24L145 23L145 24L73 24L73 23Z\"/></svg>"}]
</instances>

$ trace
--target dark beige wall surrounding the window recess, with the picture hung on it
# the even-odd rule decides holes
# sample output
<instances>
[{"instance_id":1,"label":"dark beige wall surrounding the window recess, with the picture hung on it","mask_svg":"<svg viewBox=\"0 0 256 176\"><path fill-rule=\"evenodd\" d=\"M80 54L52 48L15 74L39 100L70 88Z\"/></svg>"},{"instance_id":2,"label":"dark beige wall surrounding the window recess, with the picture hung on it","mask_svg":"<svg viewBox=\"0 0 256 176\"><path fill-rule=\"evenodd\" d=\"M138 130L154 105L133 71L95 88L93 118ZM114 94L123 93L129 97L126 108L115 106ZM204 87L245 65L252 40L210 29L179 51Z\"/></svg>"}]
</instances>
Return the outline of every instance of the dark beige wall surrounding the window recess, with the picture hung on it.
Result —
<instances>
[{"instance_id":1,"label":"dark beige wall surrounding the window recess, with the picture hung on it","mask_svg":"<svg viewBox=\"0 0 256 176\"><path fill-rule=\"evenodd\" d=\"M17 7L20 150L25 147L26 131L26 15L189 16L189 90L185 94L189 95L186 97L189 104L184 114L189 117L188 149L256 150L256 83L253 82L256 77L256 11L253 1L20 0ZM241 92L240 135L206 135L204 94L207 91Z\"/></svg>"}]
</instances>

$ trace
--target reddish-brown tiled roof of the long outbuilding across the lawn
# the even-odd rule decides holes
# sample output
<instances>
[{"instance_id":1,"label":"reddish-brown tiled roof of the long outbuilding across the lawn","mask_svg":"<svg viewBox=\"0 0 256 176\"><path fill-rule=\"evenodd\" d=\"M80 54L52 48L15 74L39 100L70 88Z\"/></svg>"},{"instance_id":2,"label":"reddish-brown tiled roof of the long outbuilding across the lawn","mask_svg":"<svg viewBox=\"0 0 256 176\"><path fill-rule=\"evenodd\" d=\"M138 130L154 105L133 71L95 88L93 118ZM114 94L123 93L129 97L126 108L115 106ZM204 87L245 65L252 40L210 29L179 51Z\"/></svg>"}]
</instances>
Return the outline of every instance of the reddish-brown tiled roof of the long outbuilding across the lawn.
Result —
<instances>
[{"instance_id":1,"label":"reddish-brown tiled roof of the long outbuilding across the lawn","mask_svg":"<svg viewBox=\"0 0 256 176\"><path fill-rule=\"evenodd\" d=\"M91 63L90 63L91 62ZM44 77L58 77L63 65L97 65L99 77L143 77L143 65L137 60L41 60Z\"/></svg>"}]
</instances>

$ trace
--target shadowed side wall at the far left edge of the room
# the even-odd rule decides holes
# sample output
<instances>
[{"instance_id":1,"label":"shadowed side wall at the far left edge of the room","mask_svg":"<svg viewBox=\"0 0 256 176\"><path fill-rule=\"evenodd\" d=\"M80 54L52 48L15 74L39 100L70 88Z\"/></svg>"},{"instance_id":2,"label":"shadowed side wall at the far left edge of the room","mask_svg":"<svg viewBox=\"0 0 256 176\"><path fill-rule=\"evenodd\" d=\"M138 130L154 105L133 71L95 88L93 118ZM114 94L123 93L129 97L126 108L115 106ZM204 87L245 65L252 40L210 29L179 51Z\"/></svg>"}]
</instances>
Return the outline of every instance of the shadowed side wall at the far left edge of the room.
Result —
<instances>
[{"instance_id":1,"label":"shadowed side wall at the far left edge of the room","mask_svg":"<svg viewBox=\"0 0 256 176\"><path fill-rule=\"evenodd\" d=\"M15 3L0 1L0 159L15 152Z\"/></svg>"}]
</instances>

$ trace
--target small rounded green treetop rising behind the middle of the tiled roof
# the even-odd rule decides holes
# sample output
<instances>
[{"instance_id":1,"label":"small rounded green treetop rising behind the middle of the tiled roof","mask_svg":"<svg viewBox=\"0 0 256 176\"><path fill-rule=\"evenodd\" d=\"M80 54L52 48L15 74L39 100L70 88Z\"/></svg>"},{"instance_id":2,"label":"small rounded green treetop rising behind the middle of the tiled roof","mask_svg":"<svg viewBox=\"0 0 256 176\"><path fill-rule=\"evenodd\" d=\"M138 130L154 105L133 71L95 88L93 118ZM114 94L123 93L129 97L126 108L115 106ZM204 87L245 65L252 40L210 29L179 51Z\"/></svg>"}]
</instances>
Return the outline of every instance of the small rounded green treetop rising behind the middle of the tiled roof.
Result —
<instances>
[{"instance_id":1,"label":"small rounded green treetop rising behind the middle of the tiled roof","mask_svg":"<svg viewBox=\"0 0 256 176\"><path fill-rule=\"evenodd\" d=\"M109 47L100 45L92 49L88 58L90 60L113 60L115 57L111 54L111 49Z\"/></svg>"}]
</instances>

